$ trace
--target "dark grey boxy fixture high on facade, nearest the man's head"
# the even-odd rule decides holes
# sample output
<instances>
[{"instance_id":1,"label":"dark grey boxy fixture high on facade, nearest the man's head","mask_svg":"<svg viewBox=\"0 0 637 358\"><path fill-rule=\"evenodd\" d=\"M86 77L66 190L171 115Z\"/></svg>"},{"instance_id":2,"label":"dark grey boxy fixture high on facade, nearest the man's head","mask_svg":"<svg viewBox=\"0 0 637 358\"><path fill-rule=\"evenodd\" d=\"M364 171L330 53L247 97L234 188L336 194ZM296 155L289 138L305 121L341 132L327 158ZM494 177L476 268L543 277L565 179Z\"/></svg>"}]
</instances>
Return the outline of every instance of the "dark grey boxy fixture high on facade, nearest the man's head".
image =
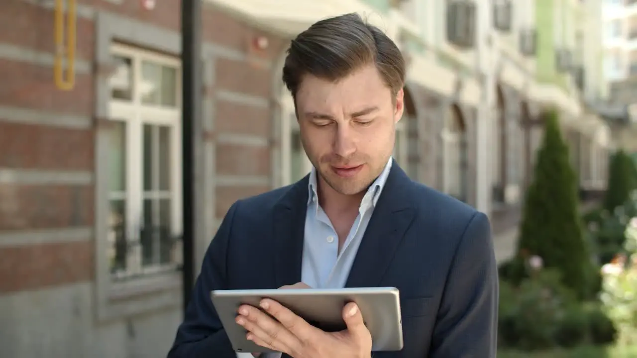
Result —
<instances>
[{"instance_id":1,"label":"dark grey boxy fixture high on facade, nearest the man's head","mask_svg":"<svg viewBox=\"0 0 637 358\"><path fill-rule=\"evenodd\" d=\"M447 3L447 41L460 48L472 48L476 37L476 4L473 1Z\"/></svg>"}]
</instances>

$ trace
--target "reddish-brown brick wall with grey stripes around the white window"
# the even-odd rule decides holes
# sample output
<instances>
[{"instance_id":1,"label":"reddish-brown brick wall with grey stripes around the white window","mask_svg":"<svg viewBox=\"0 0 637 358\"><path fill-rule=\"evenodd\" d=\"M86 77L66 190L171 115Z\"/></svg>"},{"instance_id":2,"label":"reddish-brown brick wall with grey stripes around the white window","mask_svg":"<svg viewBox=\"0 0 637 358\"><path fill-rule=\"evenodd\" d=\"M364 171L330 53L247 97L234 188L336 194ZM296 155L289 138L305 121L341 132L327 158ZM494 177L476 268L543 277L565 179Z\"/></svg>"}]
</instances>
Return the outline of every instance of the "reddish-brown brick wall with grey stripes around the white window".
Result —
<instances>
[{"instance_id":1,"label":"reddish-brown brick wall with grey stripes around the white window","mask_svg":"<svg viewBox=\"0 0 637 358\"><path fill-rule=\"evenodd\" d=\"M135 306L118 308L115 320L94 320L99 303L94 290L101 284L96 281L96 262L106 255L96 243L96 168L104 165L96 143L100 131L108 129L101 125L108 118L98 118L97 110L99 92L106 90L98 78L108 68L97 57L97 18L105 13L175 35L180 31L180 1L157 1L156 8L147 11L140 1L78 0L76 82L68 92L54 84L53 4L0 3L0 331L14 332L0 338L0 355L165 355L180 309L175 301L162 301L165 292L159 301L173 305L150 315L138 315L138 309L148 313L143 309L148 304L134 297ZM217 222L236 199L276 185L271 175L276 171L273 146L278 145L273 106L281 86L276 81L285 40L208 5L202 15L208 49L204 61L211 66L202 136L210 148L206 165L215 174L206 178L212 187L211 217L206 221ZM253 50L255 36L268 37L266 50ZM178 56L178 49L169 55ZM210 226L211 232L215 229ZM199 251L210 238L197 243ZM168 294L180 297L180 290ZM43 304L36 308L35 301ZM54 309L47 302L64 304ZM29 344L15 333L24 331L41 336L42 343ZM69 344L69 332L76 344ZM155 340L162 343L143 343Z\"/></svg>"}]
</instances>

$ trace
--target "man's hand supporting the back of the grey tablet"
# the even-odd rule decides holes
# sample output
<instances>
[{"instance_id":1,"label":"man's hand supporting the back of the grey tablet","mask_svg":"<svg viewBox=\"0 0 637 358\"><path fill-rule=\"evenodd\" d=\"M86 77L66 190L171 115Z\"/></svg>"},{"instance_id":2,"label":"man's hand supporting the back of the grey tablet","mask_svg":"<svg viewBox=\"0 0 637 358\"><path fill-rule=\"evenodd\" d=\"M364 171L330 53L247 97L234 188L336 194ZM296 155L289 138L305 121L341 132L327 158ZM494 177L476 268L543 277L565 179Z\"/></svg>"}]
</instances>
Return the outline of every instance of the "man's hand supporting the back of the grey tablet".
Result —
<instances>
[{"instance_id":1,"label":"man's hand supporting the back of the grey tablet","mask_svg":"<svg viewBox=\"0 0 637 358\"><path fill-rule=\"evenodd\" d=\"M243 305L236 322L247 331L248 340L261 347L283 352L294 358L369 358L371 335L355 303L343 308L345 331L327 333L311 326L301 317L271 299L263 299L261 308Z\"/></svg>"}]
</instances>

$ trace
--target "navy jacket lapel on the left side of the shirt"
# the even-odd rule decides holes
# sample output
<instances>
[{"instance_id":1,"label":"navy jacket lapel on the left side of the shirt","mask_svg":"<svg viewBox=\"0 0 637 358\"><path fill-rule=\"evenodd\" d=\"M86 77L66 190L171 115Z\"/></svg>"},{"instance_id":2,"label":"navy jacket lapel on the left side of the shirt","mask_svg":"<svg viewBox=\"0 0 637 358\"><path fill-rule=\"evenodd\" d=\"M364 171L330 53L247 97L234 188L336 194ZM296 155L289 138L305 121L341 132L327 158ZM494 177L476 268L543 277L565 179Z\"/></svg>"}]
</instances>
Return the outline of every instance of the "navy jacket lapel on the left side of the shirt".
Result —
<instances>
[{"instance_id":1,"label":"navy jacket lapel on the left side of the shirt","mask_svg":"<svg viewBox=\"0 0 637 358\"><path fill-rule=\"evenodd\" d=\"M309 175L294 183L275 204L273 257L276 287L301 281L308 180Z\"/></svg>"}]
</instances>

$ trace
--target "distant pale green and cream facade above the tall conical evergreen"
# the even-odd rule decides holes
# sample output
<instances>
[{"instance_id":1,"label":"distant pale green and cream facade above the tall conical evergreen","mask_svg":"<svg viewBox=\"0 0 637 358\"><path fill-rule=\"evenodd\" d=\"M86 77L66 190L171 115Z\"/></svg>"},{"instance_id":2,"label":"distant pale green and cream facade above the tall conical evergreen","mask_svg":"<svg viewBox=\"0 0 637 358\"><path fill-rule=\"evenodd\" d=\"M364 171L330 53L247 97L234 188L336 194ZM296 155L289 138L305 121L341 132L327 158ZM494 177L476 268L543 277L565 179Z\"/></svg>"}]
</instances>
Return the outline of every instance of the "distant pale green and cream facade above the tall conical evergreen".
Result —
<instances>
[{"instance_id":1,"label":"distant pale green and cream facade above the tall conical evergreen","mask_svg":"<svg viewBox=\"0 0 637 358\"><path fill-rule=\"evenodd\" d=\"M599 192L606 187L608 155L613 150L610 128L596 114L608 87L599 57L602 3L536 0L536 6L538 80L573 99L569 110L561 113L571 164L580 189Z\"/></svg>"}]
</instances>

